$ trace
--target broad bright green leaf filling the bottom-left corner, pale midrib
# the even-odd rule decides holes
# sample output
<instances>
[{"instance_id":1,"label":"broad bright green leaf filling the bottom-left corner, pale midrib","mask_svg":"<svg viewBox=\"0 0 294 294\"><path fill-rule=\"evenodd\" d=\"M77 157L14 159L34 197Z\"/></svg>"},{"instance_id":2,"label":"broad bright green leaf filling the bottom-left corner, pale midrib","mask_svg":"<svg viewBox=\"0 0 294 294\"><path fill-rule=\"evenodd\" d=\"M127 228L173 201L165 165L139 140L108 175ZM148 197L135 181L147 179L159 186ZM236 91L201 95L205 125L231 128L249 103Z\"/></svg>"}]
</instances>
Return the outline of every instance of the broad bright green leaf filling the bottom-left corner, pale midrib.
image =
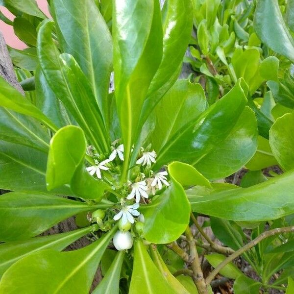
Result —
<instances>
[{"instance_id":1,"label":"broad bright green leaf filling the bottom-left corner, pale midrib","mask_svg":"<svg viewBox=\"0 0 294 294\"><path fill-rule=\"evenodd\" d=\"M82 249L67 252L47 249L24 257L4 273L0 294L44 293L44 289L47 293L88 294L115 229Z\"/></svg>"}]
</instances>

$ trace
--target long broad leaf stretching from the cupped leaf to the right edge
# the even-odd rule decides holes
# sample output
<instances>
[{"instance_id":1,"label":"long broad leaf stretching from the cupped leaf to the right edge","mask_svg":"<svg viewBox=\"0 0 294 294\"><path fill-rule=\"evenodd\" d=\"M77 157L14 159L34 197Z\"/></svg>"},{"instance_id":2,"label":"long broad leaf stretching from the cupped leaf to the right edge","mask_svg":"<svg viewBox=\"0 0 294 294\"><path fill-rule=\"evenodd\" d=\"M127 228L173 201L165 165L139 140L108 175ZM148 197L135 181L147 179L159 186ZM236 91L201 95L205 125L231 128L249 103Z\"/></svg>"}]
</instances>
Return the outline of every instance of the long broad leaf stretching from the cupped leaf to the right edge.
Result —
<instances>
[{"instance_id":1,"label":"long broad leaf stretching from the cupped leaf to the right edge","mask_svg":"<svg viewBox=\"0 0 294 294\"><path fill-rule=\"evenodd\" d=\"M248 187L202 196L187 191L192 211L232 221L275 220L294 213L294 171Z\"/></svg>"}]
</instances>

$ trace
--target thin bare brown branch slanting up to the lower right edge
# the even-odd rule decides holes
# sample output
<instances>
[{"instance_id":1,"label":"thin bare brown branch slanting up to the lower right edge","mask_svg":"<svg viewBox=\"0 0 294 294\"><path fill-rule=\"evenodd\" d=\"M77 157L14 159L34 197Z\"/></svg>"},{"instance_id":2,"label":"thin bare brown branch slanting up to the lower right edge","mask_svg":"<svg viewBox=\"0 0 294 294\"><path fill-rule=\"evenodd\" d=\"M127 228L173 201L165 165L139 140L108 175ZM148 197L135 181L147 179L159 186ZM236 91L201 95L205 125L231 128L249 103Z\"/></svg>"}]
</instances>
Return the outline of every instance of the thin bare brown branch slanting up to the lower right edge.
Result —
<instances>
[{"instance_id":1,"label":"thin bare brown branch slanting up to the lower right edge","mask_svg":"<svg viewBox=\"0 0 294 294\"><path fill-rule=\"evenodd\" d=\"M206 284L210 284L211 281L214 279L214 277L219 273L219 271L225 267L229 262L233 261L235 258L243 254L245 251L249 250L250 248L254 247L257 245L259 242L262 240L276 235L276 234L281 234L281 233L289 233L289 232L294 232L294 226L288 226L284 228L276 228L270 231L263 232L260 234L258 237L256 237L254 240L251 242L247 243L237 251L235 251L233 254L228 256L224 261L222 261L210 274L209 276L205 279Z\"/></svg>"}]
</instances>

